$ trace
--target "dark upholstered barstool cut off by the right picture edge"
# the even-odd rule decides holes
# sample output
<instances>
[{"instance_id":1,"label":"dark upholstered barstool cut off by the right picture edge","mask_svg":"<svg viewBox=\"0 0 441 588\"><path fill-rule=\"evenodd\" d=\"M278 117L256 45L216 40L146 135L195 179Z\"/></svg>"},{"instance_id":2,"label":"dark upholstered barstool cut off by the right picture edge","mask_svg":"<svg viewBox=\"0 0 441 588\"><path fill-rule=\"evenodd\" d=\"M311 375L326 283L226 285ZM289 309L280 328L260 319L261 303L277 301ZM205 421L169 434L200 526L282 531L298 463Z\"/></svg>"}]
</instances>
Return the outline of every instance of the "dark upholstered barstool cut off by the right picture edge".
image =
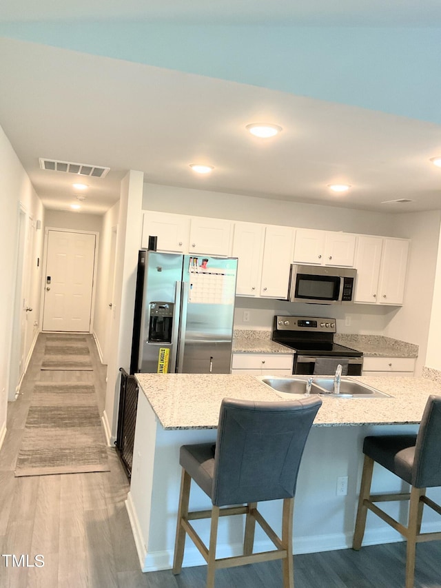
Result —
<instances>
[{"instance_id":1,"label":"dark upholstered barstool cut off by the right picture edge","mask_svg":"<svg viewBox=\"0 0 441 588\"><path fill-rule=\"evenodd\" d=\"M360 498L353 549L360 549L365 534L367 509L382 518L407 539L406 588L413 588L416 544L440 540L441 533L421 533L424 505L441 514L441 507L425 496L429 487L441 486L441 396L429 396L418 435L366 437L363 443L365 462L360 486ZM371 495L373 465L377 462L389 472L411 485L403 494ZM391 518L374 503L409 500L407 527Z\"/></svg>"}]
</instances>

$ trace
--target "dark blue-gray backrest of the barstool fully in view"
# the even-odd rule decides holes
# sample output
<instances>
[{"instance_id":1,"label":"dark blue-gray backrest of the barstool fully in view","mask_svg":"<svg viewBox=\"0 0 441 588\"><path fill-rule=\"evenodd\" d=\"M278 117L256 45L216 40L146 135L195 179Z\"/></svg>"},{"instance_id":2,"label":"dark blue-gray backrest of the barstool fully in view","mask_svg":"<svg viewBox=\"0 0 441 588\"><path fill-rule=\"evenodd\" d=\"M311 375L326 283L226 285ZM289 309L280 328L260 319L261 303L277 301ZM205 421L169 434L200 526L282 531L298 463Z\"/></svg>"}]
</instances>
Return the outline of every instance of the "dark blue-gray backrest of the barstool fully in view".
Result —
<instances>
[{"instance_id":1,"label":"dark blue-gray backrest of the barstool fully in view","mask_svg":"<svg viewBox=\"0 0 441 588\"><path fill-rule=\"evenodd\" d=\"M289 402L224 398L220 407L212 503L292 498L318 396Z\"/></svg>"}]
</instances>

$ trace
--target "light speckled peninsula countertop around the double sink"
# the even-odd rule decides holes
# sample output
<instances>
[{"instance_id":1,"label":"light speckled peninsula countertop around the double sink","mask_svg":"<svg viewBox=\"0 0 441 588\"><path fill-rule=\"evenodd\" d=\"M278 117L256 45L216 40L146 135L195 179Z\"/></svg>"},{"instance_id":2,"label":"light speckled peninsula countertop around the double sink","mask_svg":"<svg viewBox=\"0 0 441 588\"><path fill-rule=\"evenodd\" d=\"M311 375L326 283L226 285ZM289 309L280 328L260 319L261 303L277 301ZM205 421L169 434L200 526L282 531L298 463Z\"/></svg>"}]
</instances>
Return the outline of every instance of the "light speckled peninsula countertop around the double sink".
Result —
<instances>
[{"instance_id":1,"label":"light speckled peninsula countertop around the double sink","mask_svg":"<svg viewBox=\"0 0 441 588\"><path fill-rule=\"evenodd\" d=\"M213 429L223 398L283 402L252 375L136 374L164 429ZM441 395L441 383L428 378L358 376L358 381L392 398L322 396L314 426L404 425L420 423L427 397Z\"/></svg>"}]
</instances>

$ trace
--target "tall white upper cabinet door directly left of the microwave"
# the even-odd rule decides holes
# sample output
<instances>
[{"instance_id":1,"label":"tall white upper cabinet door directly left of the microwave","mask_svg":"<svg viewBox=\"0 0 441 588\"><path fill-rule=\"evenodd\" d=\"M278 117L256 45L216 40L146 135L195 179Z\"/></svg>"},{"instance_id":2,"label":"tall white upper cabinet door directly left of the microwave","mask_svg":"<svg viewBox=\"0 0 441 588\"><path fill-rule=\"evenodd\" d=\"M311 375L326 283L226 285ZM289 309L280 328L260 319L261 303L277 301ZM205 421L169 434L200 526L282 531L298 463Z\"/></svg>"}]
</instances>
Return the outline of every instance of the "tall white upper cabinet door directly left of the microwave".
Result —
<instances>
[{"instance_id":1,"label":"tall white upper cabinet door directly left of the microwave","mask_svg":"<svg viewBox=\"0 0 441 588\"><path fill-rule=\"evenodd\" d=\"M265 227L261 297L287 298L293 243L294 229L291 227Z\"/></svg>"}]
</instances>

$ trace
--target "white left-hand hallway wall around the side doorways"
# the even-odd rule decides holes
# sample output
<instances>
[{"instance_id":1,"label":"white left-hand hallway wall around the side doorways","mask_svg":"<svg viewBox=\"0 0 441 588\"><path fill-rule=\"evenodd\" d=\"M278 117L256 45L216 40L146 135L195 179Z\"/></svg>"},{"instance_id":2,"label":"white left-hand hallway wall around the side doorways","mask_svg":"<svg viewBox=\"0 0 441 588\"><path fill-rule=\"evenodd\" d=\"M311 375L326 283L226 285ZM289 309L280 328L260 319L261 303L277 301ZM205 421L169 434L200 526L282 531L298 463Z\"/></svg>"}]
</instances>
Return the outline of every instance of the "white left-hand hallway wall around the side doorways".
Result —
<instances>
[{"instance_id":1,"label":"white left-hand hallway wall around the side doorways","mask_svg":"<svg viewBox=\"0 0 441 588\"><path fill-rule=\"evenodd\" d=\"M43 221L44 211L41 201L35 194L28 175L25 173L17 154L12 149L3 129L0 128L0 273L3 287L0 294L0 434L6 423L7 398L9 389L14 390L17 382L10 379L10 365L18 365L19 358L11 357L12 324L14 316L15 284L18 265L18 221L19 203L26 215L34 221ZM32 276L30 291L33 293L34 316L39 314L38 281L36 257L41 260L43 251L43 231L35 233L30 264Z\"/></svg>"}]
</instances>

